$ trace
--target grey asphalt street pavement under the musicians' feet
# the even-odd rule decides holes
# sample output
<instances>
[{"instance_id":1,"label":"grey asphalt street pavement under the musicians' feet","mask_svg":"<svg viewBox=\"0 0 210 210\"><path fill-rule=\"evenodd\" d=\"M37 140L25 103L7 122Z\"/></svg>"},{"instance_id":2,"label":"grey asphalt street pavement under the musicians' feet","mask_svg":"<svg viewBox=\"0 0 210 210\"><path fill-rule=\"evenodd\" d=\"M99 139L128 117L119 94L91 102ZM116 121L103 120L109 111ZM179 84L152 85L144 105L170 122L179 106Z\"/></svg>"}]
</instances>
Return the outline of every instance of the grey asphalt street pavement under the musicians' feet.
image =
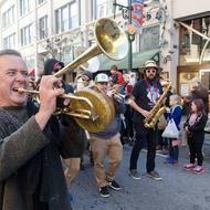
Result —
<instances>
[{"instance_id":1,"label":"grey asphalt street pavement under the musicians' feet","mask_svg":"<svg viewBox=\"0 0 210 210\"><path fill-rule=\"evenodd\" d=\"M210 136L207 136L207 139ZM208 141L208 140L207 140ZM74 196L74 210L209 210L210 209L210 144L204 144L204 174L183 170L189 162L188 146L180 146L179 162L164 164L166 156L157 155L156 170L162 181L145 176L146 151L140 153L138 171L140 180L128 176L132 147L124 145L124 156L116 174L122 190L111 190L109 198L102 198L95 185L93 167L85 156L85 170L81 170L70 188Z\"/></svg>"}]
</instances>

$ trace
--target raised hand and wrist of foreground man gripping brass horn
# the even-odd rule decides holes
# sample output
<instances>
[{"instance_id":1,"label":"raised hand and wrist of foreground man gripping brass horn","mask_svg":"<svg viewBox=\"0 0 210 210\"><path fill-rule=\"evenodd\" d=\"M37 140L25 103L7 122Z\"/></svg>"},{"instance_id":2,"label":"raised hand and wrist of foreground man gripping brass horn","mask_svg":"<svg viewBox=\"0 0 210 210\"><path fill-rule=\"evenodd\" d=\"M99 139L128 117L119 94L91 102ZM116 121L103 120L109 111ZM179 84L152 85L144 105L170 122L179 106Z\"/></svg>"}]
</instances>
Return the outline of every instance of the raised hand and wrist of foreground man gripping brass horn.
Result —
<instances>
[{"instance_id":1,"label":"raised hand and wrist of foreground man gripping brass horn","mask_svg":"<svg viewBox=\"0 0 210 210\"><path fill-rule=\"evenodd\" d=\"M63 88L55 88L61 84L61 80L53 75L42 76L40 82L40 109L35 115L35 119L43 129L56 108L56 97L64 93Z\"/></svg>"}]
</instances>

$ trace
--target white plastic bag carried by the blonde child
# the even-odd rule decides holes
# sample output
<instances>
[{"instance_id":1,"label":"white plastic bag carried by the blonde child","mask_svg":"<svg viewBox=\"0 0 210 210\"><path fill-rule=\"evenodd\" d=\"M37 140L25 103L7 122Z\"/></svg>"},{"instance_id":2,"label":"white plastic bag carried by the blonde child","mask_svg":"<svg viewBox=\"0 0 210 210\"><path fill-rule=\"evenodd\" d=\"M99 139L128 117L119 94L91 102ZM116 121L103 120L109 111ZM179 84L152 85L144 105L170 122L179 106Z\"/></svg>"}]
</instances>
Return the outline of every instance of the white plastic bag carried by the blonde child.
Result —
<instances>
[{"instance_id":1,"label":"white plastic bag carried by the blonde child","mask_svg":"<svg viewBox=\"0 0 210 210\"><path fill-rule=\"evenodd\" d=\"M168 125L166 126L162 135L161 135L164 138L179 138L180 136L180 133L179 130L177 129L177 126L175 124L175 120L174 119L170 119L168 122Z\"/></svg>"}]
</instances>

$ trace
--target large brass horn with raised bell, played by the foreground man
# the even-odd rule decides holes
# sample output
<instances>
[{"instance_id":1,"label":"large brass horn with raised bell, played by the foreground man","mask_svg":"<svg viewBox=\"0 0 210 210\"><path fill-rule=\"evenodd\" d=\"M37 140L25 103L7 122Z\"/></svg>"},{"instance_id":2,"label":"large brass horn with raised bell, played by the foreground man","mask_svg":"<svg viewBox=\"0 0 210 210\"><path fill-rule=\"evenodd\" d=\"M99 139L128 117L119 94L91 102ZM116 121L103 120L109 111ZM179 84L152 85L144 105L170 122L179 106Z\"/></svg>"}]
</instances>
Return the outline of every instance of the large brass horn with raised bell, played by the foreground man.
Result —
<instances>
[{"instance_id":1,"label":"large brass horn with raised bell, played by the foreground man","mask_svg":"<svg viewBox=\"0 0 210 210\"><path fill-rule=\"evenodd\" d=\"M95 22L94 28L96 44L87 49L76 60L54 74L61 77L66 72L85 63L90 59L104 53L112 60L122 60L127 55L128 41L124 30L112 19L103 18ZM94 90L84 90L74 95L65 95L71 99L70 105L57 108L56 114L75 117L77 124L84 129L96 133L106 128L113 120L115 111L108 96Z\"/></svg>"}]
</instances>

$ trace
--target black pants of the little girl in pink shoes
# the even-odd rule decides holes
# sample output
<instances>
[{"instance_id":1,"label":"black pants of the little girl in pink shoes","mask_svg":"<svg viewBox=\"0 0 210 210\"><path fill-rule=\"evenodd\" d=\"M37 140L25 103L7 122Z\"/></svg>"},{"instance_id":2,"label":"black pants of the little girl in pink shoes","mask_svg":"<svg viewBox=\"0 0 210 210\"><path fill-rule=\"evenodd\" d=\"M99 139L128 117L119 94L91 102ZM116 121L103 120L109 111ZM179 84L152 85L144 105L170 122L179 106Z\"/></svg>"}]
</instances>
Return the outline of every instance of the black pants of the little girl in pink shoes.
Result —
<instances>
[{"instance_id":1,"label":"black pants of the little girl in pink shoes","mask_svg":"<svg viewBox=\"0 0 210 210\"><path fill-rule=\"evenodd\" d=\"M188 145L190 149L190 164L195 164L196 158L198 159L198 166L202 166L203 155L202 155L202 145L203 138L188 138Z\"/></svg>"}]
</instances>

